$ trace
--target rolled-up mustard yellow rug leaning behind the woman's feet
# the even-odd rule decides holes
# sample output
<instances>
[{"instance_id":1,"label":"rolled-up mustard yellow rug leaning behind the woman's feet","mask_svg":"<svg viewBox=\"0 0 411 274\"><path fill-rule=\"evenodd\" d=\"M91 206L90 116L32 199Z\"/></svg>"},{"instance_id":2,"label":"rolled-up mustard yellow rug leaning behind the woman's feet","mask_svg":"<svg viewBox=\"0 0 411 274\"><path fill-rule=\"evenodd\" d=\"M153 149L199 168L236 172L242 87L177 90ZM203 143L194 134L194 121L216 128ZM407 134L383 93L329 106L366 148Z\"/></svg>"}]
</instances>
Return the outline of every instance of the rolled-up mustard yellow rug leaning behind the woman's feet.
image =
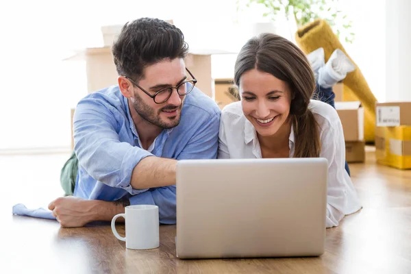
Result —
<instances>
[{"instance_id":1,"label":"rolled-up mustard yellow rug leaning behind the woman's feet","mask_svg":"<svg viewBox=\"0 0 411 274\"><path fill-rule=\"evenodd\" d=\"M325 62L336 49L343 51L353 62L337 36L332 32L331 27L322 19L317 19L298 29L295 40L306 54L322 47ZM364 107L364 139L366 142L375 142L375 102L377 99L375 99L357 64L355 62L353 64L356 69L348 73L343 81L343 99L344 101L361 101Z\"/></svg>"}]
</instances>

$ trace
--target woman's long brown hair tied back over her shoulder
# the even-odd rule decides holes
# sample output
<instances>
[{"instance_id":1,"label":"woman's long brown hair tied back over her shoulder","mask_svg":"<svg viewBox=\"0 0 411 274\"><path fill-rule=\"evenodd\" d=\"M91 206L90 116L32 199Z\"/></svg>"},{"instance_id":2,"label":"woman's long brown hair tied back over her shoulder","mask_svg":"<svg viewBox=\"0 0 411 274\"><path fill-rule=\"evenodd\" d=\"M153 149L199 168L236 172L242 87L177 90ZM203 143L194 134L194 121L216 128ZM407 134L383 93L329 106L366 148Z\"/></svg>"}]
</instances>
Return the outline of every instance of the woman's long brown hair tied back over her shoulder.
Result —
<instances>
[{"instance_id":1,"label":"woman's long brown hair tied back over her shoulder","mask_svg":"<svg viewBox=\"0 0 411 274\"><path fill-rule=\"evenodd\" d=\"M295 131L295 158L319 157L319 126L308 104L315 78L306 55L292 42L275 34L260 34L242 47L236 60L234 82L251 69L270 73L286 82L291 90L290 117Z\"/></svg>"}]
</instances>

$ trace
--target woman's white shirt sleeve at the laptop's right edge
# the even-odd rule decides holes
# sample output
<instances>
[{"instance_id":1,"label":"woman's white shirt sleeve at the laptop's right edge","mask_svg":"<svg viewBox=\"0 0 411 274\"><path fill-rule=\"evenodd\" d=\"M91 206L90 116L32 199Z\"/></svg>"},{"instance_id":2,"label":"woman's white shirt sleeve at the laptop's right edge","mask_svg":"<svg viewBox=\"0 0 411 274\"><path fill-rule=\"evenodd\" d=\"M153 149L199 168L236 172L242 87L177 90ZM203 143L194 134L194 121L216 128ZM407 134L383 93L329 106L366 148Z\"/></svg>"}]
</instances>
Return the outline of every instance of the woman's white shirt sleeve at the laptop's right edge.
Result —
<instances>
[{"instance_id":1,"label":"woman's white shirt sleeve at the laptop's right edge","mask_svg":"<svg viewBox=\"0 0 411 274\"><path fill-rule=\"evenodd\" d=\"M326 227L334 227L345 216L347 184L351 184L345 175L345 141L339 119L323 132L321 144L321 157L328 160Z\"/></svg>"}]
</instances>

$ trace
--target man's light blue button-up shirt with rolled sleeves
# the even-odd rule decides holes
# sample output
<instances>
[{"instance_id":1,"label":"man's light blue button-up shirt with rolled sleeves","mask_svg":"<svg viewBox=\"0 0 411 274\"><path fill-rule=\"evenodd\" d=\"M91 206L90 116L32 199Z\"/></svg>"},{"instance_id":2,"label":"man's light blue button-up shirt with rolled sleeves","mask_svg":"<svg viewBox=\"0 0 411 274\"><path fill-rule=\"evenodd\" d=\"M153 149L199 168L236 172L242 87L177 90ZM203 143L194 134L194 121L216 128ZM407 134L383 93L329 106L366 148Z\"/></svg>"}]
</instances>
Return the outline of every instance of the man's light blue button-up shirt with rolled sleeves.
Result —
<instances>
[{"instance_id":1,"label":"man's light blue button-up shirt with rolled sleeves","mask_svg":"<svg viewBox=\"0 0 411 274\"><path fill-rule=\"evenodd\" d=\"M87 95L79 101L73 121L79 159L74 196L103 201L127 197L132 205L157 205L160 223L175 224L175 186L134 189L132 171L150 155L176 160L216 158L220 113L214 100L194 88L186 95L179 125L164 129L149 152L140 147L119 86Z\"/></svg>"}]
</instances>

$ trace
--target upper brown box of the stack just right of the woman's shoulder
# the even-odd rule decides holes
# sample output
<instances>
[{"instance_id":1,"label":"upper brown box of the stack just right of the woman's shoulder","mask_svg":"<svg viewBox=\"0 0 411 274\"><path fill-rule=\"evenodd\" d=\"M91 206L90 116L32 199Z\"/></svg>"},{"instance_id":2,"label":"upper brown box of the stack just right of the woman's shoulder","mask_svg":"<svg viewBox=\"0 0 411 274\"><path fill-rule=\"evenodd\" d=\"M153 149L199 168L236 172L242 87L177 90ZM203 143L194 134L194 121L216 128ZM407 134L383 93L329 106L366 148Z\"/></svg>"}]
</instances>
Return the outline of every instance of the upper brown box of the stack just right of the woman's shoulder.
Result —
<instances>
[{"instance_id":1,"label":"upper brown box of the stack just right of the woman's shoulder","mask_svg":"<svg viewBox=\"0 0 411 274\"><path fill-rule=\"evenodd\" d=\"M364 140L364 108L360 101L335 102L345 141Z\"/></svg>"}]
</instances>

